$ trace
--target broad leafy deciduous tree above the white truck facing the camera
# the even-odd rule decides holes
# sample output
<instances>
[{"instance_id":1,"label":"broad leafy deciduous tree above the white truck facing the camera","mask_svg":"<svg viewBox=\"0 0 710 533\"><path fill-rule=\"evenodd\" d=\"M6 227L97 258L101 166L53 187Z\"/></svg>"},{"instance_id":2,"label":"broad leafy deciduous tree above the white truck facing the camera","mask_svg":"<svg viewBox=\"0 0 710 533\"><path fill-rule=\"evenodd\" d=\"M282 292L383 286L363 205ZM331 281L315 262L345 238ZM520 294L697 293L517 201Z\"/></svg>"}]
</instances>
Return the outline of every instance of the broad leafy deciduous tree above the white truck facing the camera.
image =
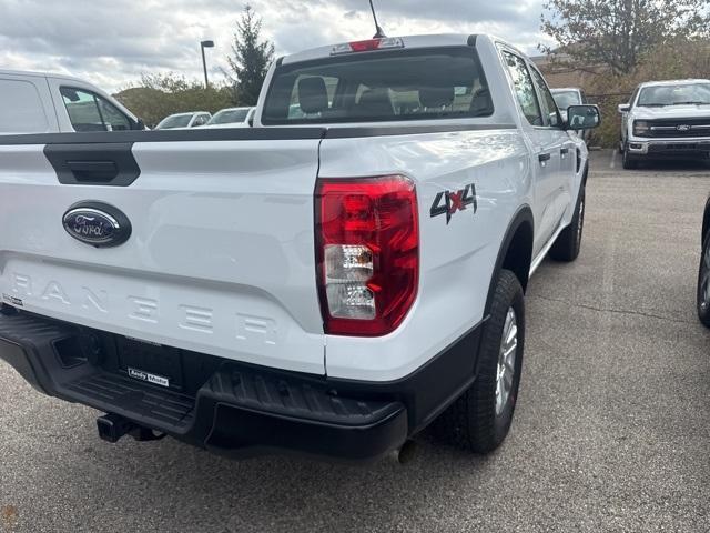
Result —
<instances>
[{"instance_id":1,"label":"broad leafy deciduous tree above the white truck facing the camera","mask_svg":"<svg viewBox=\"0 0 710 533\"><path fill-rule=\"evenodd\" d=\"M709 7L710 0L548 0L541 29L577 66L627 74L659 44L708 37Z\"/></svg>"}]
</instances>

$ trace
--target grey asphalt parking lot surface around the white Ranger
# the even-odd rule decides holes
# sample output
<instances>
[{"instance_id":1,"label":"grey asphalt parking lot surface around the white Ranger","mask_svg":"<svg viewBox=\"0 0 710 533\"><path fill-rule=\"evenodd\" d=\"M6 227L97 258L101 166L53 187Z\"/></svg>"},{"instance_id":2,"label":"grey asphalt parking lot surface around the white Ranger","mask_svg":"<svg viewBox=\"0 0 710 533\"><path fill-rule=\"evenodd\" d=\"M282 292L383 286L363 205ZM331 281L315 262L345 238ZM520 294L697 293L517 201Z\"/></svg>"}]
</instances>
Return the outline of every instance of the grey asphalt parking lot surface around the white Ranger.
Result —
<instances>
[{"instance_id":1,"label":"grey asphalt parking lot surface around the white Ranger","mask_svg":"<svg viewBox=\"0 0 710 533\"><path fill-rule=\"evenodd\" d=\"M582 251L531 282L513 431L488 457L231 462L116 445L0 362L0 532L707 532L710 332L694 314L707 165L595 152Z\"/></svg>"}]
</instances>

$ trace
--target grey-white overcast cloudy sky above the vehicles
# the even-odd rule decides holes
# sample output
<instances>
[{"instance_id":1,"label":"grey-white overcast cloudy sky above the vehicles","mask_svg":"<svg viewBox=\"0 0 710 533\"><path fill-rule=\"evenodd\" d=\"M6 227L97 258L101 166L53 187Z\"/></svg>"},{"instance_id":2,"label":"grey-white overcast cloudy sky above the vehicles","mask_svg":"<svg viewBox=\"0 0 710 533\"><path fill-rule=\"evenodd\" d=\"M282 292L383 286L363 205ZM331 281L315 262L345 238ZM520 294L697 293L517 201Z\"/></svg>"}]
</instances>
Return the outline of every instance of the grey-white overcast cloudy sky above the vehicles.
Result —
<instances>
[{"instance_id":1,"label":"grey-white overcast cloudy sky above the vehicles","mask_svg":"<svg viewBox=\"0 0 710 533\"><path fill-rule=\"evenodd\" d=\"M375 0L389 36L489 32L536 53L541 0ZM141 72L202 77L200 41L212 39L214 79L226 67L241 0L0 0L0 69L64 72L105 90ZM287 54L373 34L367 0L252 0L264 37Z\"/></svg>"}]
</instances>

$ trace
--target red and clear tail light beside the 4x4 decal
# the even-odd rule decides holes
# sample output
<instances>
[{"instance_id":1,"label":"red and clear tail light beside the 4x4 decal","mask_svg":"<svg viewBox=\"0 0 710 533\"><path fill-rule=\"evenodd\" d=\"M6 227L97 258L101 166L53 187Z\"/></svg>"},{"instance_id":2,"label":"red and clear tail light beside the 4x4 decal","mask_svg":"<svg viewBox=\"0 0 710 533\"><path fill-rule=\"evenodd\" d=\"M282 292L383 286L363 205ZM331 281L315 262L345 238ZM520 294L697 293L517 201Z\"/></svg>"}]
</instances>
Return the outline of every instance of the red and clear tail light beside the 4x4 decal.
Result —
<instances>
[{"instance_id":1,"label":"red and clear tail light beside the 4x4 decal","mask_svg":"<svg viewBox=\"0 0 710 533\"><path fill-rule=\"evenodd\" d=\"M402 175L321 179L315 201L325 332L390 333L407 315L419 281L414 183Z\"/></svg>"}]
</instances>

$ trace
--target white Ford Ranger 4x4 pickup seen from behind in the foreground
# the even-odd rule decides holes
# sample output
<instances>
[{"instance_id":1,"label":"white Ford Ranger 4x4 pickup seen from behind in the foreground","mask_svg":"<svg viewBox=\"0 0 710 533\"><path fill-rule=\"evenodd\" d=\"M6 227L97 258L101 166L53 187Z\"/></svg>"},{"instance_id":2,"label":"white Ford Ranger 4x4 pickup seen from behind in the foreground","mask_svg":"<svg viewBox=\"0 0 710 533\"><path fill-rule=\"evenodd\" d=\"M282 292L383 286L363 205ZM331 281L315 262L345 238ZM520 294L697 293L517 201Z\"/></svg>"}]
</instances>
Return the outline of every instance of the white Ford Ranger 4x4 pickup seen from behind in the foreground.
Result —
<instances>
[{"instance_id":1,"label":"white Ford Ranger 4x4 pickup seen from behind in the foreground","mask_svg":"<svg viewBox=\"0 0 710 533\"><path fill-rule=\"evenodd\" d=\"M587 167L487 36L282 58L252 129L0 138L0 356L111 442L365 460L445 413L485 453L528 276L579 253Z\"/></svg>"}]
</instances>

